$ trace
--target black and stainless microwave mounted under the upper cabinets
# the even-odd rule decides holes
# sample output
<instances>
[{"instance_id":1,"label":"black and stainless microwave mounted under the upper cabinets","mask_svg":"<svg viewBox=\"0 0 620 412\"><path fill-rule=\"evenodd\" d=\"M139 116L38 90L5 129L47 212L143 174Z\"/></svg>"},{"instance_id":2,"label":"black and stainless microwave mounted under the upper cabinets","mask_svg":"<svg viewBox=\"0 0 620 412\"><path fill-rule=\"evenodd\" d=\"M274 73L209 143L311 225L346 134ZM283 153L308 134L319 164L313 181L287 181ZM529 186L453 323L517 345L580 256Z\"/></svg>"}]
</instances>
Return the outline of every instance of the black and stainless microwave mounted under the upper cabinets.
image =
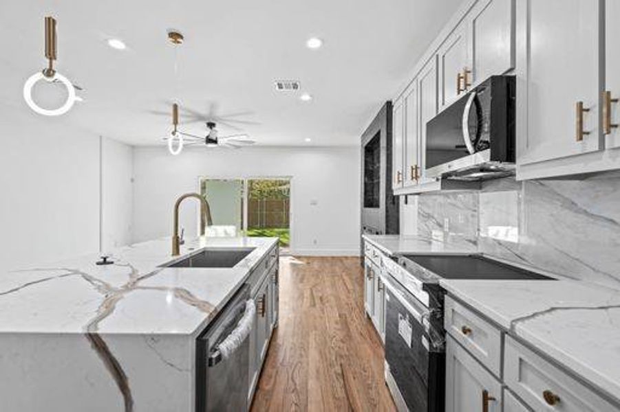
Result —
<instances>
[{"instance_id":1,"label":"black and stainless microwave mounted under the upper cabinets","mask_svg":"<svg viewBox=\"0 0 620 412\"><path fill-rule=\"evenodd\" d=\"M515 77L491 76L427 122L427 176L475 181L515 170Z\"/></svg>"}]
</instances>

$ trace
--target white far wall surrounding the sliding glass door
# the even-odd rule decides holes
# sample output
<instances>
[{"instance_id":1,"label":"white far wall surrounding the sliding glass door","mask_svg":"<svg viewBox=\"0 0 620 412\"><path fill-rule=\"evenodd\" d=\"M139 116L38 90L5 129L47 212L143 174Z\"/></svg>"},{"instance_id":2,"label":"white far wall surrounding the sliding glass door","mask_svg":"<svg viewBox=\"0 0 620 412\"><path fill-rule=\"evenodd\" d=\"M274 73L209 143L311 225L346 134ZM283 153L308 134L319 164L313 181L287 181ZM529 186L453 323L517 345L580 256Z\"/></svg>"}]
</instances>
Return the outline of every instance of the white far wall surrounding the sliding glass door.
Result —
<instances>
[{"instance_id":1,"label":"white far wall surrounding the sliding glass door","mask_svg":"<svg viewBox=\"0 0 620 412\"><path fill-rule=\"evenodd\" d=\"M134 148L133 241L170 236L175 199L197 192L199 176L290 176L292 253L359 255L359 148L197 148L178 157L165 148ZM315 203L315 204L314 204ZM180 225L197 229L197 204Z\"/></svg>"}]
</instances>

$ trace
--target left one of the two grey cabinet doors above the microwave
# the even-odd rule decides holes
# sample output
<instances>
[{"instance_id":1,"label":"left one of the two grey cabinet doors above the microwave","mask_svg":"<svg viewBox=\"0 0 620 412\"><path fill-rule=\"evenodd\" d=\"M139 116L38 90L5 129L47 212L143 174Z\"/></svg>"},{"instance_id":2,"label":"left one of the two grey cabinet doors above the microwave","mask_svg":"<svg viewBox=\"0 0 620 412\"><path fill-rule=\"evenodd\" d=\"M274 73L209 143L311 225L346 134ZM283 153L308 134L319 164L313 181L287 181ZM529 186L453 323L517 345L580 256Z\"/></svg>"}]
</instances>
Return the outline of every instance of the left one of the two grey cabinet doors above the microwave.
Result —
<instances>
[{"instance_id":1,"label":"left one of the two grey cabinet doors above the microwave","mask_svg":"<svg viewBox=\"0 0 620 412\"><path fill-rule=\"evenodd\" d=\"M469 23L462 21L438 50L440 106L443 108L456 100L467 84L462 78L471 71L467 53L467 29ZM471 79L471 73L467 73Z\"/></svg>"}]
</instances>

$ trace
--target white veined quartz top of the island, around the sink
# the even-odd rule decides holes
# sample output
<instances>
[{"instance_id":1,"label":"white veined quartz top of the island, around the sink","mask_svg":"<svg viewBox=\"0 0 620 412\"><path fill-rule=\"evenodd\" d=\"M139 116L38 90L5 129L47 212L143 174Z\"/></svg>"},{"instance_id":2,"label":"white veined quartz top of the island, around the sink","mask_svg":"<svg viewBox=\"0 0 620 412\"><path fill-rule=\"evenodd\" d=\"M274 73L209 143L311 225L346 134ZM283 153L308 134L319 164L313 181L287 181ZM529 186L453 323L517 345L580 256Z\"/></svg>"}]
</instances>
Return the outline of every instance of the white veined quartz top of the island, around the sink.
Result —
<instances>
[{"instance_id":1,"label":"white veined quartz top of the island, around the sink","mask_svg":"<svg viewBox=\"0 0 620 412\"><path fill-rule=\"evenodd\" d=\"M255 247L233 268L161 268L169 238L0 274L0 333L197 334L277 238L198 238L181 247ZM182 256L180 258L182 258ZM178 258L175 258L175 260Z\"/></svg>"}]
</instances>

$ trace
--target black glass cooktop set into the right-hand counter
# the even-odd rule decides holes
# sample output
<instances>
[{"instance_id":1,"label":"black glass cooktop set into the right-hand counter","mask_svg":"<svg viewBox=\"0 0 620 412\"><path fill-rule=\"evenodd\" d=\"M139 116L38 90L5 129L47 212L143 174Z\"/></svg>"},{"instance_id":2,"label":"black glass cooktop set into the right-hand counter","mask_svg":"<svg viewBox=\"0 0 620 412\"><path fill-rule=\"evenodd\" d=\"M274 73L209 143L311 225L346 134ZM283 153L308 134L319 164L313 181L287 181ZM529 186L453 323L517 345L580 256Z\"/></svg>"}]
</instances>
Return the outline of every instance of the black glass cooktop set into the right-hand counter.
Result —
<instances>
[{"instance_id":1,"label":"black glass cooktop set into the right-hand counter","mask_svg":"<svg viewBox=\"0 0 620 412\"><path fill-rule=\"evenodd\" d=\"M554 280L480 255L403 255L400 263L407 267L407 260L445 279Z\"/></svg>"}]
</instances>

